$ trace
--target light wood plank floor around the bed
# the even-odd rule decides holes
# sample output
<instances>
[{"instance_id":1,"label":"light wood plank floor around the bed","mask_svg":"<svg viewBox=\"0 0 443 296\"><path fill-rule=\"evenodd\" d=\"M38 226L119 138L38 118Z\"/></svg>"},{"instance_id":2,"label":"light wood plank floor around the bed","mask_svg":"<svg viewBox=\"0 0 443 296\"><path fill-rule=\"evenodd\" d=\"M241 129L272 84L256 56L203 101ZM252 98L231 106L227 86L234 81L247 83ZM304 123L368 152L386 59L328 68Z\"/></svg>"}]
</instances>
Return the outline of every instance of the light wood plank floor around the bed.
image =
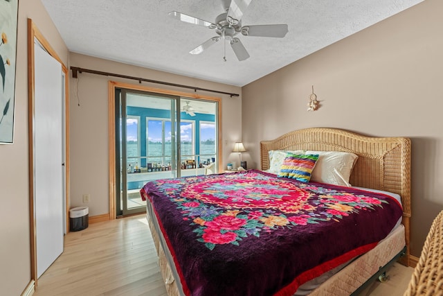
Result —
<instances>
[{"instance_id":1,"label":"light wood plank floor around the bed","mask_svg":"<svg viewBox=\"0 0 443 296\"><path fill-rule=\"evenodd\" d=\"M412 273L395 263L386 283L374 282L360 296L401 296ZM145 215L67 234L63 254L39 278L34 295L167 295Z\"/></svg>"}]
</instances>

